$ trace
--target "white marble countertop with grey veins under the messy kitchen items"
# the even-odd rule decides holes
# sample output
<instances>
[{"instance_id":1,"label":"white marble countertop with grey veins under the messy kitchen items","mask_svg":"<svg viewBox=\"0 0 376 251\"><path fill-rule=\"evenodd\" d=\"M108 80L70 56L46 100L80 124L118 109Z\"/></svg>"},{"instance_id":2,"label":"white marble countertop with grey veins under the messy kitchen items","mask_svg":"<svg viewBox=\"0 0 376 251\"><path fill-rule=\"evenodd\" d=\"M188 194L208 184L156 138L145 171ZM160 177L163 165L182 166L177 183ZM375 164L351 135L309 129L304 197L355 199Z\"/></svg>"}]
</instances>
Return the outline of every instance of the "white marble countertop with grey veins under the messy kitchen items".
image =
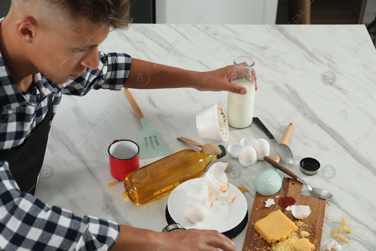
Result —
<instances>
[{"instance_id":1,"label":"white marble countertop with grey veins under the messy kitchen items","mask_svg":"<svg viewBox=\"0 0 376 251\"><path fill-rule=\"evenodd\" d=\"M259 90L256 91L254 116L259 117L270 131L282 129L276 135L278 141L284 132L280 123L293 117L294 128L288 145L295 161L289 166L290 170L312 186L323 187L334 194L331 207L327 205L326 208L321 250L332 239L330 230L340 226L339 216L353 224L349 225L354 229L353 234L347 234L351 244L349 250L376 250L376 50L372 43L363 42L369 38L365 26L293 25L286 26L282 33L282 26L274 25L200 24L169 53L166 47L188 26L133 24L129 30L111 32L100 50L125 52L134 58L197 71L230 65L238 55L255 56ZM279 38L273 38L277 33ZM269 42L268 49L261 50L269 39L275 42ZM321 75L327 70L334 71L337 76L332 86L321 81ZM226 92L184 88L132 90L132 93L146 120L161 132L165 141L185 127L184 137L200 143L221 143L203 140L196 126L187 128L185 123L205 104L221 100L226 106ZM110 116L75 148L76 137L112 104L116 108ZM300 104L304 108L294 113ZM123 199L120 181L117 186L106 188L107 183L115 181L109 172L109 144L115 139L138 142L141 131L141 123L123 91L92 90L84 97L64 96L52 123L44 158L44 165L50 165L55 173L51 180L43 176L39 179L36 197L80 216L98 215L121 224L162 231L167 225L168 196L139 206ZM368 134L367 138L363 133ZM246 136L265 137L252 124L244 129L230 128L229 140L222 144L227 148ZM364 140L360 141L358 137ZM185 148L190 147L176 142L170 152ZM274 153L275 150L271 150L270 156L274 157ZM334 166L337 175L326 180L321 172L313 176L303 174L299 161L304 157L316 158L321 167ZM151 161L140 160L140 165ZM229 162L229 166L239 165L229 155L221 161ZM258 161L253 167L244 167L242 177L230 180L230 183L253 189L255 176L269 166L265 161ZM249 213L255 196L252 189L244 193ZM306 187L302 193L308 194ZM117 202L105 212L103 208L112 198ZM246 229L234 239L238 250L242 249L245 234ZM343 250L349 246L339 242L343 244Z\"/></svg>"}]
</instances>

